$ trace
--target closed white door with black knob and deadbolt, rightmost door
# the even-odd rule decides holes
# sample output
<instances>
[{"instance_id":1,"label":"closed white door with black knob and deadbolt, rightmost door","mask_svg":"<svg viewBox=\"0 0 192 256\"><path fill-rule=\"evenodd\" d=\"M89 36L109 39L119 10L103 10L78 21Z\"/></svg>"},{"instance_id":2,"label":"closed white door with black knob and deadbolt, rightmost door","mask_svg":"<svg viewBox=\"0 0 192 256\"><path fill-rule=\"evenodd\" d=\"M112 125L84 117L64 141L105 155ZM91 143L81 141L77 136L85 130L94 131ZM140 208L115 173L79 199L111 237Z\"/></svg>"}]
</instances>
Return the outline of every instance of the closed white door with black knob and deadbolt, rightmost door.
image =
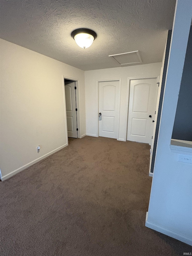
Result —
<instances>
[{"instance_id":1,"label":"closed white door with black knob and deadbolt, rightmost door","mask_svg":"<svg viewBox=\"0 0 192 256\"><path fill-rule=\"evenodd\" d=\"M151 145L157 89L156 79L131 80L127 140Z\"/></svg>"}]
</instances>

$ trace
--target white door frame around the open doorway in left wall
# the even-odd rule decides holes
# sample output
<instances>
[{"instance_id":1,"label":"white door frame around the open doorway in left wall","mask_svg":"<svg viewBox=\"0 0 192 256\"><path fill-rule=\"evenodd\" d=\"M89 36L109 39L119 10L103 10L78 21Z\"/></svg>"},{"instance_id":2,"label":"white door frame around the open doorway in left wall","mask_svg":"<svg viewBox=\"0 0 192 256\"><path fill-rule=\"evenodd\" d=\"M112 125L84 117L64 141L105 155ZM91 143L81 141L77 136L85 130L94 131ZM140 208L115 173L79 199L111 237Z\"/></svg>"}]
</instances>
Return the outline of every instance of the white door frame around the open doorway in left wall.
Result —
<instances>
[{"instance_id":1,"label":"white door frame around the open doorway in left wall","mask_svg":"<svg viewBox=\"0 0 192 256\"><path fill-rule=\"evenodd\" d=\"M81 111L80 111L80 86L79 86L79 79L74 77L68 77L62 75L62 83L63 83L63 102L64 102L64 113L65 113L65 130L66 130L66 137L67 137L67 145L68 145L68 134L67 134L67 113L66 113L66 102L65 102L65 88L64 88L64 79L75 81L76 86L76 104L77 104L77 137L81 139Z\"/></svg>"}]
</instances>

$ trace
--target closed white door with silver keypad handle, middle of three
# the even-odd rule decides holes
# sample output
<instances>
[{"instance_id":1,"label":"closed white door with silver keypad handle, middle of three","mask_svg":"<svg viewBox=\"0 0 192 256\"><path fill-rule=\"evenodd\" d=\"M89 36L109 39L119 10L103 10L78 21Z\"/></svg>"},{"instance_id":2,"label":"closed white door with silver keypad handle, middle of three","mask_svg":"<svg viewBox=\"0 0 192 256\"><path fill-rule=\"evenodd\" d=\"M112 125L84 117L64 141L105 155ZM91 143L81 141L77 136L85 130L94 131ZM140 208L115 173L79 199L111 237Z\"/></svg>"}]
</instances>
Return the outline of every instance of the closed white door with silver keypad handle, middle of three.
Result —
<instances>
[{"instance_id":1,"label":"closed white door with silver keypad handle, middle of three","mask_svg":"<svg viewBox=\"0 0 192 256\"><path fill-rule=\"evenodd\" d=\"M118 138L119 81L99 82L99 136Z\"/></svg>"}]
</instances>

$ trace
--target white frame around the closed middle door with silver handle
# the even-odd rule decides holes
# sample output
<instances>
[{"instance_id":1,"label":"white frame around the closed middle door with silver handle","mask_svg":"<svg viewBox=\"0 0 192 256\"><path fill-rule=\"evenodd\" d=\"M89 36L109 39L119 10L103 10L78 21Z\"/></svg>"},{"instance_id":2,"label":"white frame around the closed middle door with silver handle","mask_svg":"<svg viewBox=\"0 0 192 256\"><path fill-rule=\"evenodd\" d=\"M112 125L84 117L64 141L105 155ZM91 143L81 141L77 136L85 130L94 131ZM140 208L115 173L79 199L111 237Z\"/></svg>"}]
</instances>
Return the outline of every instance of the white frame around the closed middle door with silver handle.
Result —
<instances>
[{"instance_id":1,"label":"white frame around the closed middle door with silver handle","mask_svg":"<svg viewBox=\"0 0 192 256\"><path fill-rule=\"evenodd\" d=\"M97 137L99 137L99 83L101 82L116 82L119 81L119 105L118 105L118 112L119 112L119 120L120 120L120 101L121 101L121 78L119 79L101 79L97 80ZM118 122L118 138L119 138L119 122ZM117 140L118 140L117 138Z\"/></svg>"}]
</instances>

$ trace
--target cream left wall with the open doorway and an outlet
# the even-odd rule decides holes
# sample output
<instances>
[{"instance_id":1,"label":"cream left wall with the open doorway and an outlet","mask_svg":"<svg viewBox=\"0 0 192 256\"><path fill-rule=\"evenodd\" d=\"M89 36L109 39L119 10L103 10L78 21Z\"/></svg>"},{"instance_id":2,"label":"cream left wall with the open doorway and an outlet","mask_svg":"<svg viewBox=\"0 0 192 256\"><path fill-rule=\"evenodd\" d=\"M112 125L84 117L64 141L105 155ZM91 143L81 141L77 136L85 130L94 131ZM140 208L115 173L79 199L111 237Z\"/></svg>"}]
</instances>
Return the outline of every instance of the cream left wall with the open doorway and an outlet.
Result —
<instances>
[{"instance_id":1,"label":"cream left wall with the open doorway and an outlet","mask_svg":"<svg viewBox=\"0 0 192 256\"><path fill-rule=\"evenodd\" d=\"M79 129L86 133L85 82L84 71L2 39L0 52L0 168L6 179L67 145L63 77L79 80Z\"/></svg>"}]
</instances>

